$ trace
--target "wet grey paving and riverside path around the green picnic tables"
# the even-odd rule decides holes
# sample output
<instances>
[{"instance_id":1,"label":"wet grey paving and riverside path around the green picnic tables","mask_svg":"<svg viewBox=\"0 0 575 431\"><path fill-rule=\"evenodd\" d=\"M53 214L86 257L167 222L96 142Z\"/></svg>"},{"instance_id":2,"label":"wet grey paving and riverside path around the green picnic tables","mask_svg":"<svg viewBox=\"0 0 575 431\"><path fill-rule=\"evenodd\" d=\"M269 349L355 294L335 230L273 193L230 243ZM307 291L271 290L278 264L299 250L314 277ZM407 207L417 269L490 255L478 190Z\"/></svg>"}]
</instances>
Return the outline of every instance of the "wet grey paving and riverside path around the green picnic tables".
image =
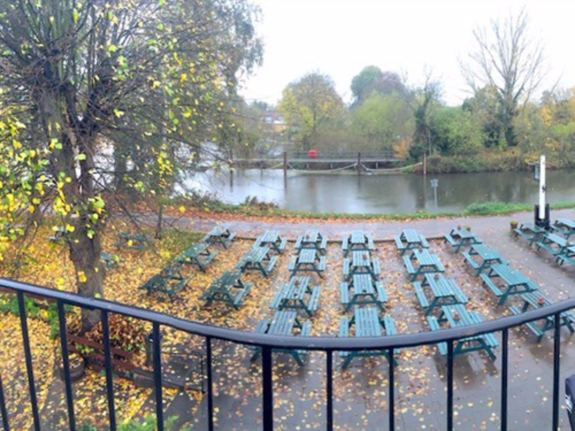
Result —
<instances>
[{"instance_id":1,"label":"wet grey paving and riverside path around the green picnic tables","mask_svg":"<svg viewBox=\"0 0 575 431\"><path fill-rule=\"evenodd\" d=\"M554 217L575 217L575 211L554 211ZM438 236L457 224L468 224L490 247L509 260L509 264L538 283L543 293L558 301L575 294L575 268L558 267L545 251L536 252L526 241L509 234L509 220L528 220L530 213L500 217L469 217L461 219L412 222L345 222L336 224L308 222L295 224L236 221L234 228L250 235L264 229L279 229L294 237L314 227L333 238L352 229L364 229L376 239L390 238L402 228L420 230L427 236ZM208 228L213 221L197 220L194 227ZM289 246L288 246L289 247ZM485 319L508 314L507 306L498 306L490 291L481 287L481 280L465 264L461 254L451 251L441 241L431 241L431 251L438 253L446 265L446 275L454 278L469 298L469 309L477 310ZM398 332L428 330L423 312L416 301L407 272L393 244L380 243L375 253L382 264L382 279L388 293L386 313L396 321ZM312 318L313 335L337 334L339 316L338 280L342 252L336 244L328 252L328 282L323 282L320 310ZM335 261L335 264L333 262ZM287 281L286 260L270 279L270 291ZM511 301L513 303L513 301ZM271 310L269 311L271 315ZM561 382L575 372L574 337L563 329L561 340ZM496 334L501 340L501 334ZM216 367L218 429L254 429L260 425L260 365L246 367L245 361L229 363L229 357L242 356L233 347L222 347L223 355ZM233 353L232 353L233 351ZM496 360L484 353L473 352L455 357L455 429L499 429L501 350ZM537 343L525 328L509 334L509 401L508 428L523 430L549 429L551 426L553 373L553 340L548 333ZM247 359L249 352L244 352ZM308 363L298 367L291 357L274 354L274 418L282 429L323 429L325 420L325 355L311 353ZM348 370L335 359L334 421L339 429L387 429L388 426L388 363L383 357L355 359ZM232 373L229 367L237 367ZM563 385L563 383L561 383ZM562 386L561 386L562 387ZM397 429L443 429L446 426L446 359L434 346L404 349L396 367ZM562 393L562 390L561 390ZM562 397L561 397L562 399ZM205 401L194 418L205 420ZM561 424L568 426L562 408ZM565 429L565 428L563 428Z\"/></svg>"}]
</instances>

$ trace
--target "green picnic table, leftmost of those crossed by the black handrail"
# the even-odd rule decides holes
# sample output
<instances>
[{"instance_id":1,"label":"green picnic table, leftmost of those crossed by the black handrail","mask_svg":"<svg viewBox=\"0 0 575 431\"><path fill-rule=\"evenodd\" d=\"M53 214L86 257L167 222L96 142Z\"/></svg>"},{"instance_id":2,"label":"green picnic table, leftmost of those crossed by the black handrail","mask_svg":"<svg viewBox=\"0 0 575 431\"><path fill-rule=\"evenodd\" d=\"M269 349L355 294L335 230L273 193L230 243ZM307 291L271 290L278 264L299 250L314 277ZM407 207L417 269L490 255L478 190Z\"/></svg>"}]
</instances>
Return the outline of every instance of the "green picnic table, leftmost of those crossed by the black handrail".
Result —
<instances>
[{"instance_id":1,"label":"green picnic table, leftmost of those crossed by the black handrail","mask_svg":"<svg viewBox=\"0 0 575 431\"><path fill-rule=\"evenodd\" d=\"M255 332L260 334L271 334L271 335L281 335L281 336L293 336L294 328L300 329L301 337L309 337L312 331L312 322L309 320L300 322L297 318L297 311L293 310L281 310L276 311L274 317L269 319L260 320L258 326L256 326ZM303 357L306 355L305 350L298 349L274 349L274 352L286 352L293 356L298 365L303 365ZM262 354L262 348L255 347L254 355L252 355L251 360L254 361Z\"/></svg>"}]
</instances>

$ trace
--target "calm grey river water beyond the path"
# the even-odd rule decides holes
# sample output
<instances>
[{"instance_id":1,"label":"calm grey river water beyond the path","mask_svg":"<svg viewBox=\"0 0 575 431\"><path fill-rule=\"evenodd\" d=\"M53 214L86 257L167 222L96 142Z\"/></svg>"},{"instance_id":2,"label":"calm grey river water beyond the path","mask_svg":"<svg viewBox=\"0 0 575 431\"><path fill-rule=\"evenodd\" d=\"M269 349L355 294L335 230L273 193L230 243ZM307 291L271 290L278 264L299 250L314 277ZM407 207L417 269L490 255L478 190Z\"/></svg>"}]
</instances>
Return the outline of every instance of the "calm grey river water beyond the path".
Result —
<instances>
[{"instance_id":1,"label":"calm grey river water beyond the path","mask_svg":"<svg viewBox=\"0 0 575 431\"><path fill-rule=\"evenodd\" d=\"M435 199L431 180L438 180ZM189 185L227 202L248 196L293 210L340 213L461 211L472 202L535 203L538 182L531 172L423 175L310 175L281 170L240 170L234 175L198 174ZM575 200L575 170L547 171L547 202Z\"/></svg>"}]
</instances>

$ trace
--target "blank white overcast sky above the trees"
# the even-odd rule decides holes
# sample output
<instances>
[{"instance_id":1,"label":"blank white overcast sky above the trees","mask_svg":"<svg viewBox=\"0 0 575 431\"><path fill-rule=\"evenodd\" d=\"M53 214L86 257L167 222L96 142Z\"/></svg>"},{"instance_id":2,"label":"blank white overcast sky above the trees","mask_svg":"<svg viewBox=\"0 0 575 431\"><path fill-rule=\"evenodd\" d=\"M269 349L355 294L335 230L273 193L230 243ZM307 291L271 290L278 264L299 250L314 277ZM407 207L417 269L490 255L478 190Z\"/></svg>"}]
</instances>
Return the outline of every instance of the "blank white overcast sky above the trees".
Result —
<instances>
[{"instance_id":1,"label":"blank white overcast sky above the trees","mask_svg":"<svg viewBox=\"0 0 575 431\"><path fill-rule=\"evenodd\" d=\"M364 66L405 72L418 84L425 66L443 83L443 100L461 103L469 93L458 56L473 45L471 30L490 18L516 14L523 6L530 33L543 41L552 86L575 84L575 0L254 0L262 9L258 32L263 66L244 82L241 94L276 103L286 84L306 72L332 77L344 101L351 79Z\"/></svg>"}]
</instances>

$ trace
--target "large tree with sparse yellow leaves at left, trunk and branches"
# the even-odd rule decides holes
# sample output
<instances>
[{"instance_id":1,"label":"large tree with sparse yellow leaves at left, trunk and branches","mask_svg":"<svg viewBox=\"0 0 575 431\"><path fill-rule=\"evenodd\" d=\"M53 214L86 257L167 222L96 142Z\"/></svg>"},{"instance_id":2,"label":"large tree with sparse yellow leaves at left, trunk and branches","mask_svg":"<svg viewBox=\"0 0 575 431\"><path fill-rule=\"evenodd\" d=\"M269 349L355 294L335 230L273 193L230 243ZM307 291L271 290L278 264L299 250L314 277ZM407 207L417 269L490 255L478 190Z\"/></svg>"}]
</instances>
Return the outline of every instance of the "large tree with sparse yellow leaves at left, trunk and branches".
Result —
<instances>
[{"instance_id":1,"label":"large tree with sparse yellow leaves at left, trunk and branches","mask_svg":"<svg viewBox=\"0 0 575 431\"><path fill-rule=\"evenodd\" d=\"M176 155L233 127L237 75L261 57L256 13L243 0L0 3L0 225L24 218L26 234L26 212L49 209L78 292L103 296L106 216L127 208L118 178L166 193ZM83 329L98 320L82 310Z\"/></svg>"}]
</instances>

